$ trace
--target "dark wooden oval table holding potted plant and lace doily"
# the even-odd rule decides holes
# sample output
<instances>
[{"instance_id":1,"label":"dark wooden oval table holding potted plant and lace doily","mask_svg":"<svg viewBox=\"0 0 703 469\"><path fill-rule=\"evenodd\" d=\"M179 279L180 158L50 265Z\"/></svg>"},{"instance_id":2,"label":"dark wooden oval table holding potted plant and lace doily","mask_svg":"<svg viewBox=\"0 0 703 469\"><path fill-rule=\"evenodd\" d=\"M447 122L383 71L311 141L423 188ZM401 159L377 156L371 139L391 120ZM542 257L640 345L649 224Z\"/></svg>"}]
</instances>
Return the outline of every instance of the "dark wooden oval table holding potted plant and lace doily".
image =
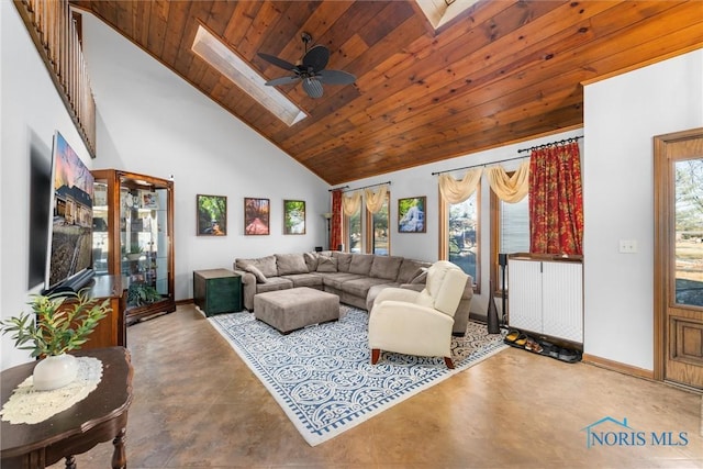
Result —
<instances>
[{"instance_id":1,"label":"dark wooden oval table holding potted plant and lace doily","mask_svg":"<svg viewBox=\"0 0 703 469\"><path fill-rule=\"evenodd\" d=\"M112 440L112 468L126 468L124 435L127 410L132 403L132 364L124 347L81 350L77 357L102 361L98 388L70 409L37 424L1 422L0 466L3 469L44 468L66 458L67 468L76 468L74 455L86 453L99 443ZM24 381L36 361L3 370L2 405Z\"/></svg>"}]
</instances>

